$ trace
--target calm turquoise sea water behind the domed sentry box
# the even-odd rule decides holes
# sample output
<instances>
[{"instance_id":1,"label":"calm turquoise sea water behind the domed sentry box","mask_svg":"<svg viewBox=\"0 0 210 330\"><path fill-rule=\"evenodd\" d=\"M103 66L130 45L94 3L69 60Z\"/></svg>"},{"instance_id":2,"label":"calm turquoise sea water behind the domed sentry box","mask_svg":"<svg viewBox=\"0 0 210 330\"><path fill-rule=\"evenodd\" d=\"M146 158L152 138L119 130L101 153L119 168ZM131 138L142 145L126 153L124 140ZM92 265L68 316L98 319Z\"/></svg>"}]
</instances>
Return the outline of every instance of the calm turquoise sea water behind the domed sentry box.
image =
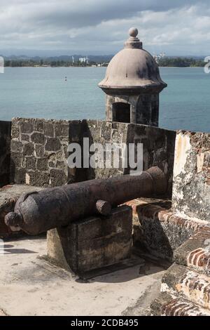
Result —
<instances>
[{"instance_id":1,"label":"calm turquoise sea water behind the domed sentry box","mask_svg":"<svg viewBox=\"0 0 210 330\"><path fill-rule=\"evenodd\" d=\"M105 67L6 67L0 74L0 120L12 117L104 119L97 87ZM210 132L210 74L203 68L162 67L160 127ZM67 81L64 81L67 77Z\"/></svg>"}]
</instances>

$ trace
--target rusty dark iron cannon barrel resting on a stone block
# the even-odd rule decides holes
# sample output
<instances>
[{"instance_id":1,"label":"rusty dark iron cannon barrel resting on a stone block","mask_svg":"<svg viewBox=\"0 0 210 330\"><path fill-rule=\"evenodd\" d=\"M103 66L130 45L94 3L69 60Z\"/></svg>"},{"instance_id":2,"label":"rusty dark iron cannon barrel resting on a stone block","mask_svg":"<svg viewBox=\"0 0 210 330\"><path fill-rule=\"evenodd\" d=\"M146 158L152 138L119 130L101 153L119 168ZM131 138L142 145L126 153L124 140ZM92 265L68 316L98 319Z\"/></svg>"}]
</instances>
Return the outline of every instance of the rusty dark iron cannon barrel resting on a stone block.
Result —
<instances>
[{"instance_id":1,"label":"rusty dark iron cannon barrel resting on a stone block","mask_svg":"<svg viewBox=\"0 0 210 330\"><path fill-rule=\"evenodd\" d=\"M158 167L139 176L117 176L48 188L23 194L14 212L6 215L5 223L29 235L38 235L96 213L108 215L112 207L138 197L164 194L166 190L167 178Z\"/></svg>"}]
</instances>

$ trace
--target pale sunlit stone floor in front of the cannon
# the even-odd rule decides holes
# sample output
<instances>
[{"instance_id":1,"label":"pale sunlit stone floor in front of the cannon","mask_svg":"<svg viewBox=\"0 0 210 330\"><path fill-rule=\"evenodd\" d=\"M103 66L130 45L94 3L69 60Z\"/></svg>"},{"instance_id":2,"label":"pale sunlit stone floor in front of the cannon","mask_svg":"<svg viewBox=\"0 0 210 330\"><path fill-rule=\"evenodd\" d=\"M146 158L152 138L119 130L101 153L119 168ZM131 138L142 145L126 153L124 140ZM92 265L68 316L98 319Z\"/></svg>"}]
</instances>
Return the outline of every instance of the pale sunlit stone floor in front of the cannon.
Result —
<instances>
[{"instance_id":1,"label":"pale sunlit stone floor in front of the cannon","mask_svg":"<svg viewBox=\"0 0 210 330\"><path fill-rule=\"evenodd\" d=\"M146 263L83 282L45 253L45 237L0 242L0 316L146 315L165 272Z\"/></svg>"}]
</instances>

